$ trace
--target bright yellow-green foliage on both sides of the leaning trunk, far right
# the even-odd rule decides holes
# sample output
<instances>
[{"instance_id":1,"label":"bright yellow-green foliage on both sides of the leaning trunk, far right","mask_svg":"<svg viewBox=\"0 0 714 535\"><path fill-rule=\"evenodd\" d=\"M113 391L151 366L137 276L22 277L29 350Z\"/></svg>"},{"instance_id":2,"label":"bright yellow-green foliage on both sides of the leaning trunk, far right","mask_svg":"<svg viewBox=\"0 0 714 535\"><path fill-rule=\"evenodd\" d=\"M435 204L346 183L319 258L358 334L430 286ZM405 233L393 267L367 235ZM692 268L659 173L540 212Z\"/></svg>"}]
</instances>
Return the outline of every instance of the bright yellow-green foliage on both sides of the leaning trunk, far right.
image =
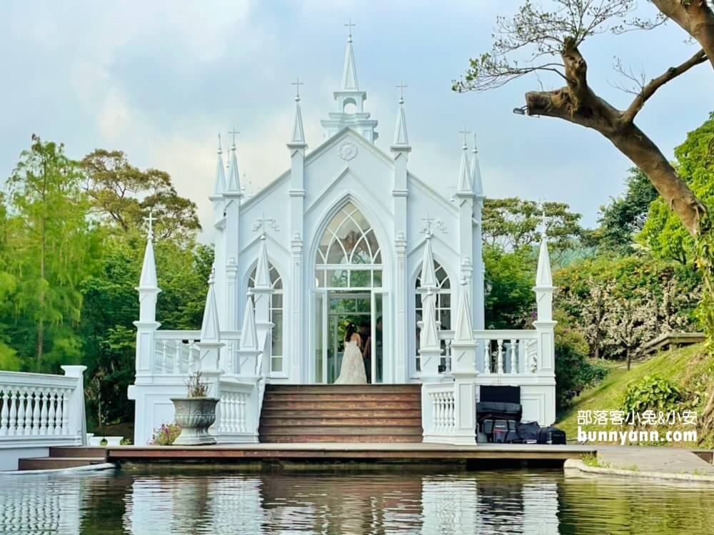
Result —
<instances>
[{"instance_id":1,"label":"bright yellow-green foliage on both sides of the leaning trunk, far right","mask_svg":"<svg viewBox=\"0 0 714 535\"><path fill-rule=\"evenodd\" d=\"M675 148L679 175L695 195L708 206L714 205L714 113L687 134ZM638 241L660 258L692 263L694 240L662 198L650 204L647 222Z\"/></svg>"}]
</instances>

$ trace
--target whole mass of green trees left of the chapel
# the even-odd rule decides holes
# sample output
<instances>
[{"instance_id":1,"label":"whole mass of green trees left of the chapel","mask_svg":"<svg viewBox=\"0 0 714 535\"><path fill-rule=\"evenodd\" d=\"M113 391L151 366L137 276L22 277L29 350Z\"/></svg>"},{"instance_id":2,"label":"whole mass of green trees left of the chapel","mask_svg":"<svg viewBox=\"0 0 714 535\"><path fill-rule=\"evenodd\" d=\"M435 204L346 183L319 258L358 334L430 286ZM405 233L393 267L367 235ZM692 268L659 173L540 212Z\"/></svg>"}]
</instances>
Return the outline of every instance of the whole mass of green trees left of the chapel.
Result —
<instances>
[{"instance_id":1,"label":"whole mass of green trees left of the chapel","mask_svg":"<svg viewBox=\"0 0 714 535\"><path fill-rule=\"evenodd\" d=\"M90 421L131 420L144 218L151 208L159 219L162 326L197 329L213 250L196 243L196 205L167 173L139 170L124 153L76 162L36 136L0 201L0 369L81 362Z\"/></svg>"}]
</instances>

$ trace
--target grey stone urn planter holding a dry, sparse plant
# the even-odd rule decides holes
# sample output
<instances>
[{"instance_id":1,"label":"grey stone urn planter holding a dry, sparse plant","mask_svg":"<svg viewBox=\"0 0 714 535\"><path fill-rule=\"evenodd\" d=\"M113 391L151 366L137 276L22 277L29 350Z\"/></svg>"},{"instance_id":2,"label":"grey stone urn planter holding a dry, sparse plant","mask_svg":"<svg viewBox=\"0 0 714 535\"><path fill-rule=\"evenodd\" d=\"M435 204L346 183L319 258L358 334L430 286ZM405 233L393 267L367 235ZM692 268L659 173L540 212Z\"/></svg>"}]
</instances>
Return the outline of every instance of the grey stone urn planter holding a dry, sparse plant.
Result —
<instances>
[{"instance_id":1,"label":"grey stone urn planter holding a dry, sparse plant","mask_svg":"<svg viewBox=\"0 0 714 535\"><path fill-rule=\"evenodd\" d=\"M208 383L201 380L201 372L188 376L186 387L188 397L172 397L174 419L181 427L181 434L174 440L178 446L198 446L216 444L216 439L208 434L208 427L216 422L218 399L208 397Z\"/></svg>"}]
</instances>

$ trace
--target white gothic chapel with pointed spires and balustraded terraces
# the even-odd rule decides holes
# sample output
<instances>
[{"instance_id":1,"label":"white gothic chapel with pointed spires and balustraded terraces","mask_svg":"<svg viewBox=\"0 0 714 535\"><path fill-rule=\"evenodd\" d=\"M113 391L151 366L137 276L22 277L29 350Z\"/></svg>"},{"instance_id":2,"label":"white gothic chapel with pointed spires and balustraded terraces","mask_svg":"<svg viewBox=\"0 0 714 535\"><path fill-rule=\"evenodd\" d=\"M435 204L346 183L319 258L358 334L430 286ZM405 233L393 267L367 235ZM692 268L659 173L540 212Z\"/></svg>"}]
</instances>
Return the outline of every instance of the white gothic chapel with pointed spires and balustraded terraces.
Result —
<instances>
[{"instance_id":1,"label":"white gothic chapel with pointed spires and balustraded terraces","mask_svg":"<svg viewBox=\"0 0 714 535\"><path fill-rule=\"evenodd\" d=\"M475 442L484 385L519 387L524 420L555 419L545 235L533 330L485 330L476 146L470 155L464 132L458 175L431 177L453 182L452 200L408 169L403 96L390 151L378 148L351 35L333 97L334 111L321 121L325 139L308 151L298 91L289 168L250 198L241 189L235 141L226 172L218 148L210 196L216 258L201 331L160 329L149 231L129 387L135 444L173 420L170 398L185 394L186 375L196 369L221 399L212 428L218 442L257 442L266 390L333 383L352 322L367 341L368 382L414 384L421 392L424 442Z\"/></svg>"}]
</instances>

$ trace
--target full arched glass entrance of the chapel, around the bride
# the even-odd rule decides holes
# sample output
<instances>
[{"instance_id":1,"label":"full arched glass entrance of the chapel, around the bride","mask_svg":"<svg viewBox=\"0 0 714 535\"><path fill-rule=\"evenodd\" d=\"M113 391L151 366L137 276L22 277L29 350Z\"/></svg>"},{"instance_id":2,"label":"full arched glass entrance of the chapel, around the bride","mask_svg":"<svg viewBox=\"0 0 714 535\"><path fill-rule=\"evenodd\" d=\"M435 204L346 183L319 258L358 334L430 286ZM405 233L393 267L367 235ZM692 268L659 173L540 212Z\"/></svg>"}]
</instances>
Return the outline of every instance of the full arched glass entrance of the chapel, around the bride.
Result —
<instances>
[{"instance_id":1,"label":"full arched glass entrance of the chapel, around the bride","mask_svg":"<svg viewBox=\"0 0 714 535\"><path fill-rule=\"evenodd\" d=\"M314 379L340 373L346 328L358 327L368 382L383 382L382 254L373 228L353 203L333 216L315 256Z\"/></svg>"}]
</instances>

